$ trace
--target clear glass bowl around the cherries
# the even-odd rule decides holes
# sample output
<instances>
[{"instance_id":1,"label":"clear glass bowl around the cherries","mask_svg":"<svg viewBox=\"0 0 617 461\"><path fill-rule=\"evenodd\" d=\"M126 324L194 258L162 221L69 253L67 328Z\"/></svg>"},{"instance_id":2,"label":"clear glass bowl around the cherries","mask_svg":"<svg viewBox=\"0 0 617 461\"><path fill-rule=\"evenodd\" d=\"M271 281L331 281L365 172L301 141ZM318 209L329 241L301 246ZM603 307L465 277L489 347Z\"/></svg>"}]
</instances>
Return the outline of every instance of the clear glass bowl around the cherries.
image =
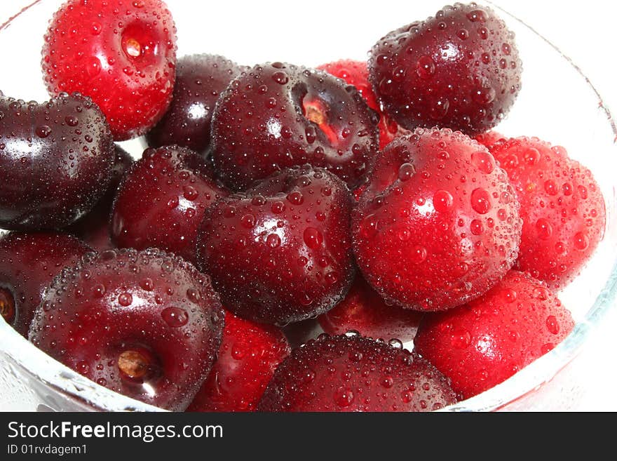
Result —
<instances>
[{"instance_id":1,"label":"clear glass bowl around the cherries","mask_svg":"<svg viewBox=\"0 0 617 461\"><path fill-rule=\"evenodd\" d=\"M234 6L233 15L226 2L205 6L166 0L177 25L179 56L217 53L245 65L280 60L308 66L341 58L364 60L369 48L386 32L433 15L444 2L423 1L418 6L393 1L388 2L388 8L346 21L341 18L348 18L348 4L316 0L311 3L312 10L322 8L327 14L320 15L318 29L311 29L299 22L301 16L293 19L291 10L281 8L278 12L278 4L271 0L242 2ZM48 20L62 1L10 3L0 9L0 21L6 20L0 26L0 53L8 63L0 74L0 89L24 100L47 100L40 69L41 47ZM581 275L559 293L576 321L571 334L501 385L444 410L568 410L576 408L592 385L593 353L586 351L616 310L617 175L613 172L617 170L617 131L602 98L578 67L499 4L491 6L515 32L524 71L519 98L497 129L510 136L536 135L563 145L571 157L588 166L606 200L606 232ZM568 88L568 98L563 97L562 88ZM135 158L141 156L145 145L142 139L121 144ZM0 388L0 410L160 410L81 377L4 322L0 322Z\"/></svg>"}]
</instances>

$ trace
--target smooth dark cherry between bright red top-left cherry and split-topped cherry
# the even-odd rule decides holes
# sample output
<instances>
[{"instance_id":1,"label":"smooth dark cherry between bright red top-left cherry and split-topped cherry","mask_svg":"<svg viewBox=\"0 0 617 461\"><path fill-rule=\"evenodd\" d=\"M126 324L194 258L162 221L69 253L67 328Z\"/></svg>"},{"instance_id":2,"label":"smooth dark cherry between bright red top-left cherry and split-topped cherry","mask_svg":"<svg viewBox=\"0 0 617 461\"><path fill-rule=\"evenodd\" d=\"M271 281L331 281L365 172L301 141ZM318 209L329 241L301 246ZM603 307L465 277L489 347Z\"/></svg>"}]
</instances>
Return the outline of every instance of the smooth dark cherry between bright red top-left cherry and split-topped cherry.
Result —
<instances>
[{"instance_id":1,"label":"smooth dark cherry between bright red top-left cherry and split-topped cherry","mask_svg":"<svg viewBox=\"0 0 617 461\"><path fill-rule=\"evenodd\" d=\"M223 56L179 58L171 104L161 121L146 134L148 145L179 145L206 156L215 105L220 93L238 74L240 67Z\"/></svg>"}]
</instances>

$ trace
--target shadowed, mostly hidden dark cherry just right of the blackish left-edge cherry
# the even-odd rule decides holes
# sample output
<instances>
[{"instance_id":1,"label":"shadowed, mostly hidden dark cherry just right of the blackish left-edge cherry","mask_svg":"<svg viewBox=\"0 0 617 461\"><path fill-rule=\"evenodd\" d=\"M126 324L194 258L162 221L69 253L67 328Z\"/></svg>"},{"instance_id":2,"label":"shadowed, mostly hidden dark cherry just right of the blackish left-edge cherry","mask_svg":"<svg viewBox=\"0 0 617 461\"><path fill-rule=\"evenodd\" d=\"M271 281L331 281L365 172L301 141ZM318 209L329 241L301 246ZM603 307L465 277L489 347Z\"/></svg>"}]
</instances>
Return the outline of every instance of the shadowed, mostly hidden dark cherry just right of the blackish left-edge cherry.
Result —
<instances>
[{"instance_id":1,"label":"shadowed, mostly hidden dark cherry just right of the blackish left-edge cherry","mask_svg":"<svg viewBox=\"0 0 617 461\"><path fill-rule=\"evenodd\" d=\"M118 192L118 185L124 174L133 164L133 158L122 147L116 145L114 167L111 169L111 181L102 199L98 201L92 211L83 216L74 225L67 227L67 232L79 236L97 251L116 248L111 242L109 227L111 223L111 206Z\"/></svg>"}]
</instances>

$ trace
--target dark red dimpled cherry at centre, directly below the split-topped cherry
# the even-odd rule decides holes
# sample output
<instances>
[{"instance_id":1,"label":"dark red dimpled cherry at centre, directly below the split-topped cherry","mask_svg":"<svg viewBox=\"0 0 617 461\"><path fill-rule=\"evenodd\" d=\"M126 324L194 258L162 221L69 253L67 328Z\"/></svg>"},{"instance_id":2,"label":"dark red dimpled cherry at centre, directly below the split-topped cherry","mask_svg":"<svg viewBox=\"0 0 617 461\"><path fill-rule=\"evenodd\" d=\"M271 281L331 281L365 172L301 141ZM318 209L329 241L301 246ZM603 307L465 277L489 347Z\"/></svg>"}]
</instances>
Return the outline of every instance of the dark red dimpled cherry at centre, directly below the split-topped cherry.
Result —
<instances>
[{"instance_id":1,"label":"dark red dimpled cherry at centre, directly below the split-topped cherry","mask_svg":"<svg viewBox=\"0 0 617 461\"><path fill-rule=\"evenodd\" d=\"M350 209L351 195L332 173L279 173L206 211L198 267L245 319L285 324L323 314L353 279Z\"/></svg>"}]
</instances>

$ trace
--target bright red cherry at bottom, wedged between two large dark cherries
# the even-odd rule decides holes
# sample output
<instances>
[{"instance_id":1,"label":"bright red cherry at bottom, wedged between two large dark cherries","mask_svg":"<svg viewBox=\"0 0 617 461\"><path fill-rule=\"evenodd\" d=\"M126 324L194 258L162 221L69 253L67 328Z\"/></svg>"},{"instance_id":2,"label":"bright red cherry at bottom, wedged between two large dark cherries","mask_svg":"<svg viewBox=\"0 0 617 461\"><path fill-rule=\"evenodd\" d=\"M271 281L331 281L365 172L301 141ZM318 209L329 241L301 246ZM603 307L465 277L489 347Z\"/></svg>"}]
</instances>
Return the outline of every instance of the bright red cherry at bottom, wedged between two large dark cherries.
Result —
<instances>
[{"instance_id":1,"label":"bright red cherry at bottom, wedged between two large dark cherries","mask_svg":"<svg viewBox=\"0 0 617 461\"><path fill-rule=\"evenodd\" d=\"M289 353L275 326L226 313L219 356L187 411L255 411L276 366Z\"/></svg>"}]
</instances>

